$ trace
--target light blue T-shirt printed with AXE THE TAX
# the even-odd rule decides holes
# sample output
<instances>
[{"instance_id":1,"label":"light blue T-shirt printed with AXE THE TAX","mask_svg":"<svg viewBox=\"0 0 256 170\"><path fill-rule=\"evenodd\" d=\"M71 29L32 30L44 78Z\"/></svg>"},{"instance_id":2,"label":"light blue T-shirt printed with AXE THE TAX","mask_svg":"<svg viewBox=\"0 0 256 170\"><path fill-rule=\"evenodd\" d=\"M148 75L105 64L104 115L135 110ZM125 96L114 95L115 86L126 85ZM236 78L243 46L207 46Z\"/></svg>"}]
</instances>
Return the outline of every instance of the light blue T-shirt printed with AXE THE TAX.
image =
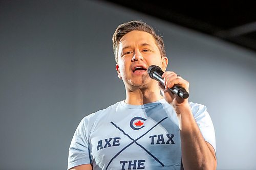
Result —
<instances>
[{"instance_id":1,"label":"light blue T-shirt printed with AXE THE TAX","mask_svg":"<svg viewBox=\"0 0 256 170\"><path fill-rule=\"evenodd\" d=\"M189 103L205 139L216 149L206 107ZM164 99L145 105L118 102L84 117L71 141L68 169L92 164L99 169L180 169L178 118Z\"/></svg>"}]
</instances>

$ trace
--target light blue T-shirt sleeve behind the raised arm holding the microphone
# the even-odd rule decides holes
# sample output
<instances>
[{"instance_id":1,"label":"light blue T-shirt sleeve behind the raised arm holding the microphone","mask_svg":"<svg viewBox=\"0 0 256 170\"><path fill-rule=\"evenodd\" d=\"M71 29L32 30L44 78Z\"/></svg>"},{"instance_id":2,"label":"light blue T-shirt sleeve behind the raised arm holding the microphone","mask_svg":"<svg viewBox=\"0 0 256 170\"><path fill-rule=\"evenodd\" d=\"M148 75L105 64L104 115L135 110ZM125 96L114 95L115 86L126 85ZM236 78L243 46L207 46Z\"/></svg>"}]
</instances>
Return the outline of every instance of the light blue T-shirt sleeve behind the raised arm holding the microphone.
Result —
<instances>
[{"instance_id":1,"label":"light blue T-shirt sleeve behind the raised arm holding the microphone","mask_svg":"<svg viewBox=\"0 0 256 170\"><path fill-rule=\"evenodd\" d=\"M190 103L191 110L197 125L204 137L204 140L212 145L216 153L216 139L214 125L212 124L211 118L207 109L204 105Z\"/></svg>"}]
</instances>

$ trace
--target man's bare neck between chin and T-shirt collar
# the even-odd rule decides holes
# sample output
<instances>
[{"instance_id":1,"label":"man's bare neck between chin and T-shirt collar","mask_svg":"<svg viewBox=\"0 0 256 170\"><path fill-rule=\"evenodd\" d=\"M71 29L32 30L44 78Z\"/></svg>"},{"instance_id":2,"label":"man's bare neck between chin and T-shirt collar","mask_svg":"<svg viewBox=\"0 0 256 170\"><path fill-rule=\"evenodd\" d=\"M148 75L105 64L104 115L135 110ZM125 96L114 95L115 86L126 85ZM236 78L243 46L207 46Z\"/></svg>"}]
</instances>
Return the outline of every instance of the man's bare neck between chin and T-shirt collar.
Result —
<instances>
[{"instance_id":1,"label":"man's bare neck between chin and T-shirt collar","mask_svg":"<svg viewBox=\"0 0 256 170\"><path fill-rule=\"evenodd\" d=\"M143 88L126 88L125 103L130 105L144 105L146 103L156 102L163 99L160 89L156 82L148 87Z\"/></svg>"}]
</instances>

